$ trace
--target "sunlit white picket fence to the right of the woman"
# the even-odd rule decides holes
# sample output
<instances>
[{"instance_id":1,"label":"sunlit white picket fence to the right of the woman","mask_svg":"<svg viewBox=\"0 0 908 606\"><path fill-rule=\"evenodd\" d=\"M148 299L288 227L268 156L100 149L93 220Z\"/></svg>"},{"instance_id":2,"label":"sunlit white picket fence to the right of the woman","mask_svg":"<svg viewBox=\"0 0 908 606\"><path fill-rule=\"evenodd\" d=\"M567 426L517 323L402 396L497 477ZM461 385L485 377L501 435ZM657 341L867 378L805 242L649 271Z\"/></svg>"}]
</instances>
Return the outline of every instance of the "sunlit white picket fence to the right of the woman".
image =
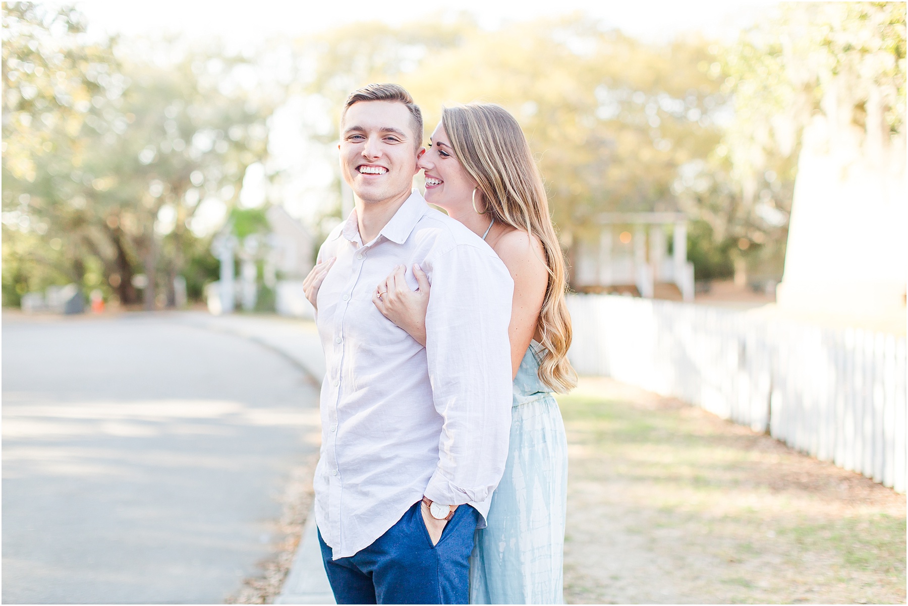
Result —
<instances>
[{"instance_id":1,"label":"sunlit white picket fence to the right of the woman","mask_svg":"<svg viewBox=\"0 0 908 606\"><path fill-rule=\"evenodd\" d=\"M905 492L905 337L572 295L581 375L674 396Z\"/></svg>"}]
</instances>

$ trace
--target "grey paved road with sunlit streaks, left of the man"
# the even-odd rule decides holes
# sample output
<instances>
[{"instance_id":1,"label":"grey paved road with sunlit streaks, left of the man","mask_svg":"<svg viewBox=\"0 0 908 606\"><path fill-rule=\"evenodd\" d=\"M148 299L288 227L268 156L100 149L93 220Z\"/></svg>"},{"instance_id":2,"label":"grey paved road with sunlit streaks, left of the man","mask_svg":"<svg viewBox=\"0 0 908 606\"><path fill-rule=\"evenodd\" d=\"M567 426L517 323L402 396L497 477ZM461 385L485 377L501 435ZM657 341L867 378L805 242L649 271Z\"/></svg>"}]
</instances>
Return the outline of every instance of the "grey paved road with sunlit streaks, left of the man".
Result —
<instances>
[{"instance_id":1,"label":"grey paved road with sunlit streaks, left of the man","mask_svg":"<svg viewBox=\"0 0 908 606\"><path fill-rule=\"evenodd\" d=\"M3 601L212 603L319 440L286 357L176 316L3 323Z\"/></svg>"}]
</instances>

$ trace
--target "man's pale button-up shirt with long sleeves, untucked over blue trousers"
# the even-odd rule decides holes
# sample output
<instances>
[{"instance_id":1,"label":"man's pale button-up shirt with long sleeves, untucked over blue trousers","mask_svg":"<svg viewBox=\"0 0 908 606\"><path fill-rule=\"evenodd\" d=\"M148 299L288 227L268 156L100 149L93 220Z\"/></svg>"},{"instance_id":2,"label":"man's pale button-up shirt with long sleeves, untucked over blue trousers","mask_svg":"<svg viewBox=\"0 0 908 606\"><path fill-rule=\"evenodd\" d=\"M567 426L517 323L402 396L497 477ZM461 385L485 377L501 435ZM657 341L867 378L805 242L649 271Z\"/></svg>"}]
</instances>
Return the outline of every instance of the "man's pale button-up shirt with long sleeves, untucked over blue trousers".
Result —
<instances>
[{"instance_id":1,"label":"man's pale button-up shirt with long sleeves, untucked over blue trousers","mask_svg":"<svg viewBox=\"0 0 908 606\"><path fill-rule=\"evenodd\" d=\"M367 244L356 210L331 231L318 295L327 374L315 520L334 559L368 547L425 494L489 513L511 414L514 282L501 259L413 191ZM395 265L432 285L426 347L381 315L372 293Z\"/></svg>"}]
</instances>

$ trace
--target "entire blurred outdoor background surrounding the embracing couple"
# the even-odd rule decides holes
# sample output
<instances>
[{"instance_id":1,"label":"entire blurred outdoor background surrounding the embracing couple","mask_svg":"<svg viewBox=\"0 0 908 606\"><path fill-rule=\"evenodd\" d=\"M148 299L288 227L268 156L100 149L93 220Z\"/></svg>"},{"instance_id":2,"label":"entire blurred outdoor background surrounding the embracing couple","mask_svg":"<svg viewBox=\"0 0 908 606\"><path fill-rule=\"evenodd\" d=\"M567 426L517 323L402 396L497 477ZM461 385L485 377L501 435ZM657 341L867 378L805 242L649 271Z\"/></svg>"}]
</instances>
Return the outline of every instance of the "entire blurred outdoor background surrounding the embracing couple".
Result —
<instances>
[{"instance_id":1,"label":"entire blurred outdoor background surrounding the embracing couple","mask_svg":"<svg viewBox=\"0 0 908 606\"><path fill-rule=\"evenodd\" d=\"M3 25L4 601L331 600L301 283L352 208L341 105L396 82L427 138L502 104L546 181L581 375L566 599L904 602L904 3Z\"/></svg>"}]
</instances>

